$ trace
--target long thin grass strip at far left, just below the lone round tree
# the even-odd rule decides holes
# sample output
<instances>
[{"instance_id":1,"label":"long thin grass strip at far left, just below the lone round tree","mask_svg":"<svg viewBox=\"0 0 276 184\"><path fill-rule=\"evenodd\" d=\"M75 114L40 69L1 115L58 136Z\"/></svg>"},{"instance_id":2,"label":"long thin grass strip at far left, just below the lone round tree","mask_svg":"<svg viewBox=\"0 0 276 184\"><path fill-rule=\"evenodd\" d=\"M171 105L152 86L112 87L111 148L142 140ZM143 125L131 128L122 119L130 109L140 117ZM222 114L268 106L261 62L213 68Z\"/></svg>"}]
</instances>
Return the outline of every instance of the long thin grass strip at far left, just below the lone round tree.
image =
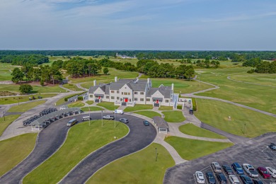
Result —
<instances>
[{"instance_id":1,"label":"long thin grass strip at far left, just below the lone round tree","mask_svg":"<svg viewBox=\"0 0 276 184\"><path fill-rule=\"evenodd\" d=\"M13 96L13 97L0 98L0 105L18 103L18 101L19 103L27 102L29 101L29 97L32 98L33 96L35 96L35 98L38 98L38 96L42 96L42 98L50 98L56 95L57 93L49 93L49 94L41 94L41 95Z\"/></svg>"}]
</instances>

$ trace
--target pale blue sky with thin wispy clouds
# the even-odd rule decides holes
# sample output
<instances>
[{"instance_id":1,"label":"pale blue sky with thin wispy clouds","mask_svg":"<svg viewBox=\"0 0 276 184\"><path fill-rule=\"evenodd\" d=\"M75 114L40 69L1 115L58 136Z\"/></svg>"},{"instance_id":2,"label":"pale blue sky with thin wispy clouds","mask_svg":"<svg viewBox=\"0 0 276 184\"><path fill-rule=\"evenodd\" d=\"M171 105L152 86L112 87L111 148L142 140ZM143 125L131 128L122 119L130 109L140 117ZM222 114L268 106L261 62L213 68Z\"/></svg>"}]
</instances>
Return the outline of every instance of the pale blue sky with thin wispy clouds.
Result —
<instances>
[{"instance_id":1,"label":"pale blue sky with thin wispy clouds","mask_svg":"<svg viewBox=\"0 0 276 184\"><path fill-rule=\"evenodd\" d=\"M275 0L1 0L0 50L276 50Z\"/></svg>"}]
</instances>

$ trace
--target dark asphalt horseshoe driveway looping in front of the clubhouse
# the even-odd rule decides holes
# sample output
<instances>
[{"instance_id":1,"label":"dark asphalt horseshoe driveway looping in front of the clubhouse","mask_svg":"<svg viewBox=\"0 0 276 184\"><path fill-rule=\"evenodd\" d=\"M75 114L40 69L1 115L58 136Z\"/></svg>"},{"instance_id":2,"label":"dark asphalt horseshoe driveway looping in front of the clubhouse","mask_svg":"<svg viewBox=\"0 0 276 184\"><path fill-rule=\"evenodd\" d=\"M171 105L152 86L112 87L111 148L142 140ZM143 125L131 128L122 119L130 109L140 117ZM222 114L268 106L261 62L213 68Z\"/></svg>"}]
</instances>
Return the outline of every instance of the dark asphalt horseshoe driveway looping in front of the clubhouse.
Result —
<instances>
[{"instance_id":1,"label":"dark asphalt horseshoe driveway looping in front of the clubhouse","mask_svg":"<svg viewBox=\"0 0 276 184\"><path fill-rule=\"evenodd\" d=\"M103 113L103 115L108 115L108 113ZM81 117L83 116L84 115L76 115L74 118L81 122ZM105 164L110 161L114 161L122 156L139 151L154 141L156 137L156 129L153 125L144 127L141 118L130 115L116 115L116 120L121 117L127 117L130 120L130 123L127 124L127 126L130 127L129 134L127 134L126 137L119 139L117 142L103 146L101 149L89 155L84 161L79 163L76 168L74 168L74 172L79 173L78 179L71 178L70 172L68 176L64 178L66 183L81 183L81 181L87 180L99 168L105 166ZM39 166L40 163L52 156L52 154L59 149L59 146L63 144L69 130L69 127L67 127L66 124L71 118L72 117L66 117L57 120L43 129L40 134L38 134L35 149L33 149L25 160L11 169L11 171L4 174L4 176L1 176L0 183L21 183L23 177L30 173L30 171L33 171L33 169ZM91 113L91 118L94 120L101 119L101 113ZM104 153L105 155L101 153ZM86 163L87 161L93 161L95 163ZM93 166L95 166L95 168L86 172L83 171L84 168L91 168Z\"/></svg>"}]
</instances>

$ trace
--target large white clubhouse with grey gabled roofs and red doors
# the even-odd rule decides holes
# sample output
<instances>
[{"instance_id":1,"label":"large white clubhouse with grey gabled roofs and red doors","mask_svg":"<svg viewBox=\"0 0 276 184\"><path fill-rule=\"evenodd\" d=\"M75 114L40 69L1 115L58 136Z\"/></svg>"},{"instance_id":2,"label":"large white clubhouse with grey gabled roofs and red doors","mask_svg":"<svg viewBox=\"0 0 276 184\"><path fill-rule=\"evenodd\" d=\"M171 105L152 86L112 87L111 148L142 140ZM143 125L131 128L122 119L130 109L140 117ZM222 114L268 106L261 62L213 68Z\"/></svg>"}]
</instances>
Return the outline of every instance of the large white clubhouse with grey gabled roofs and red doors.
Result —
<instances>
[{"instance_id":1,"label":"large white clubhouse with grey gabled roofs and red doors","mask_svg":"<svg viewBox=\"0 0 276 184\"><path fill-rule=\"evenodd\" d=\"M96 102L114 102L115 105L134 106L135 104L151 104L173 106L178 101L178 96L173 95L171 86L151 87L151 79L117 79L109 84L96 84L89 88L88 100Z\"/></svg>"}]
</instances>

